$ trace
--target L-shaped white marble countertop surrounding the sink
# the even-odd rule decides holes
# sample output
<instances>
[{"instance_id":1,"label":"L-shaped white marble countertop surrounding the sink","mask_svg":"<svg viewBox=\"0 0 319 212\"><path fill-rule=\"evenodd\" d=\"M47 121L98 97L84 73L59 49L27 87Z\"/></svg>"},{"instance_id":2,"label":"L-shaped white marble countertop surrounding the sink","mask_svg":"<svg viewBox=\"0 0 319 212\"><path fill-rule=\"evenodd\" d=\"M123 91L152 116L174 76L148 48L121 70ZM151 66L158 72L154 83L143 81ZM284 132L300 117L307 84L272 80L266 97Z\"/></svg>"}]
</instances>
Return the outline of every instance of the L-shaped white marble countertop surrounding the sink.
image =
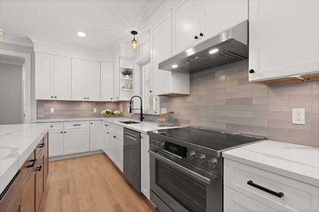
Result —
<instances>
[{"instance_id":1,"label":"L-shaped white marble countertop surrounding the sink","mask_svg":"<svg viewBox=\"0 0 319 212\"><path fill-rule=\"evenodd\" d=\"M157 122L150 122L150 121L140 121L139 119L132 119L132 118L125 118L125 117L99 117L99 118L65 118L65 119L37 119L33 120L31 122L33 123L47 123L47 122L65 122L65 121L94 121L94 120L102 120L111 122L114 124L117 124L119 126L123 126L141 133L147 133L147 131L150 130L156 130L156 129L169 129L169 128L178 128L181 126L172 126L172 127L162 127L158 126ZM121 123L120 121L136 121L139 123L134 124L125 124Z\"/></svg>"}]
</instances>

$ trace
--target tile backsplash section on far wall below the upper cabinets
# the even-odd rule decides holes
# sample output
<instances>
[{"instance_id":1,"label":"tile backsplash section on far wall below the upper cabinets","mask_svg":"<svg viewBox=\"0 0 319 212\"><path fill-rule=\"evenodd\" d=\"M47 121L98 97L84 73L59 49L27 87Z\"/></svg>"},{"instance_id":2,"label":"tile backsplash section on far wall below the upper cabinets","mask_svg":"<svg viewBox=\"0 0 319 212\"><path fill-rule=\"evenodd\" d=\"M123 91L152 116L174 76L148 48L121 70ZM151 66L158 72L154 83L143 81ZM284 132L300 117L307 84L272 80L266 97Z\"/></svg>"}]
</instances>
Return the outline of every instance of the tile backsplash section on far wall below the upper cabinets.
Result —
<instances>
[{"instance_id":1,"label":"tile backsplash section on far wall below the upper cabinets","mask_svg":"<svg viewBox=\"0 0 319 212\"><path fill-rule=\"evenodd\" d=\"M38 100L37 119L105 117L101 114L102 109L120 109L118 106L118 103L113 102ZM50 113L50 108L54 108L54 113ZM96 108L96 112L93 112L93 108ZM117 116L121 117L122 114Z\"/></svg>"}]
</instances>

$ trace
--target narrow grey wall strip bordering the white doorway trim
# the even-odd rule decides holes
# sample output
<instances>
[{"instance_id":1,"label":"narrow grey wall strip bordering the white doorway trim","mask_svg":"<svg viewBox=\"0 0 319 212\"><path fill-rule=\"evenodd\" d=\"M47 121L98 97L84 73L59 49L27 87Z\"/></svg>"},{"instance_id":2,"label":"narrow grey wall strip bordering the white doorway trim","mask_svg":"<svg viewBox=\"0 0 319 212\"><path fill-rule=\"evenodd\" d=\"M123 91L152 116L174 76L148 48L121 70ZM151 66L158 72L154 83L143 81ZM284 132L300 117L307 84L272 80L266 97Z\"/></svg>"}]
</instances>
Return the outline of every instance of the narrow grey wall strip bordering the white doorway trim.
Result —
<instances>
[{"instance_id":1,"label":"narrow grey wall strip bordering the white doorway trim","mask_svg":"<svg viewBox=\"0 0 319 212\"><path fill-rule=\"evenodd\" d=\"M34 51L33 47L27 47L27 46L21 46L11 43L0 43L0 49L8 50L8 51L14 51L14 52L21 52L21 53L27 53L31 55L31 95L30 95L30 120L36 119L36 100L34 97Z\"/></svg>"}]
</instances>

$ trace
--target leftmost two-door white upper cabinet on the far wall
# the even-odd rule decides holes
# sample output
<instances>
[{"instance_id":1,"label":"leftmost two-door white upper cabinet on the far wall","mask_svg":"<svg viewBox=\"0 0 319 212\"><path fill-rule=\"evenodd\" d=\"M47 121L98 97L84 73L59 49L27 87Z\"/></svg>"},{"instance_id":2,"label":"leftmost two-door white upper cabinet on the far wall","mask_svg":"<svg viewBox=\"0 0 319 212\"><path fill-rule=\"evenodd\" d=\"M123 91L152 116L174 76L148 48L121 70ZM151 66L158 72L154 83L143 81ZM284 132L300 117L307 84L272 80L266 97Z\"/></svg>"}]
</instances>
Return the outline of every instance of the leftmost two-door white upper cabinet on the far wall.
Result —
<instances>
[{"instance_id":1,"label":"leftmost two-door white upper cabinet on the far wall","mask_svg":"<svg viewBox=\"0 0 319 212\"><path fill-rule=\"evenodd\" d=\"M71 58L35 52L35 99L71 100Z\"/></svg>"}]
</instances>

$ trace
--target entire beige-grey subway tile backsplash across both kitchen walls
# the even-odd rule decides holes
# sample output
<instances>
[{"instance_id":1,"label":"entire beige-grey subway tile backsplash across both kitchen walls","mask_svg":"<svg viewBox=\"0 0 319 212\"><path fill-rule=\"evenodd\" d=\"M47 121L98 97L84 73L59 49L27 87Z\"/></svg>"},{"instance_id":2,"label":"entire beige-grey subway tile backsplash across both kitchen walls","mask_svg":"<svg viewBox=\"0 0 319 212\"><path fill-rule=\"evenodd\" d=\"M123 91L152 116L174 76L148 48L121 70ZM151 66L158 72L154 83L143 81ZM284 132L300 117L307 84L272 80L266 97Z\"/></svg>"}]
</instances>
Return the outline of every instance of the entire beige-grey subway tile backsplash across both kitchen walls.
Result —
<instances>
[{"instance_id":1,"label":"entire beige-grey subway tile backsplash across both kitchen walls","mask_svg":"<svg viewBox=\"0 0 319 212\"><path fill-rule=\"evenodd\" d=\"M176 125L231 130L319 147L319 81L258 85L249 83L247 70L245 61L191 75L190 95L160 98L161 107L175 112ZM55 113L50 113L50 107L55 107ZM38 101L38 118L101 117L104 108L123 108L121 116L139 117L128 112L128 102ZM292 124L292 108L306 109L306 125ZM153 122L159 118L144 116Z\"/></svg>"}]
</instances>

